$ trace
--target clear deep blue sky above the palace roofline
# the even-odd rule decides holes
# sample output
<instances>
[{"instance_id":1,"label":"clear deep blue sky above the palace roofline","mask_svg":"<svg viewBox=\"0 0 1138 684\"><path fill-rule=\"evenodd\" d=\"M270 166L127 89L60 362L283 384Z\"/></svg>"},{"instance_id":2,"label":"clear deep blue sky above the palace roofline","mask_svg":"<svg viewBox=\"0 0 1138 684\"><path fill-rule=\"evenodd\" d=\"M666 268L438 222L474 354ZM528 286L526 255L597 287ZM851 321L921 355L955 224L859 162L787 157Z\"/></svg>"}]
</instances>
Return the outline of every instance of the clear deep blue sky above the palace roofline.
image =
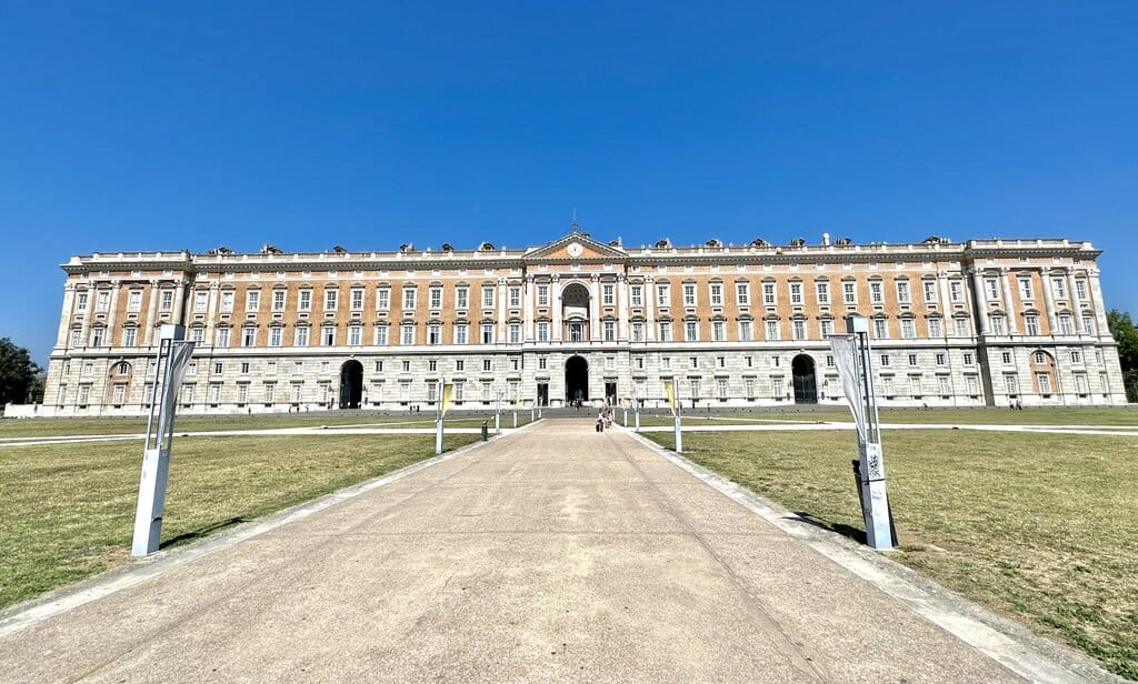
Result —
<instances>
[{"instance_id":1,"label":"clear deep blue sky above the palace roofline","mask_svg":"<svg viewBox=\"0 0 1138 684\"><path fill-rule=\"evenodd\" d=\"M0 336L73 253L1090 240L1138 314L1138 5L0 0ZM789 7L786 7L789 6Z\"/></svg>"}]
</instances>

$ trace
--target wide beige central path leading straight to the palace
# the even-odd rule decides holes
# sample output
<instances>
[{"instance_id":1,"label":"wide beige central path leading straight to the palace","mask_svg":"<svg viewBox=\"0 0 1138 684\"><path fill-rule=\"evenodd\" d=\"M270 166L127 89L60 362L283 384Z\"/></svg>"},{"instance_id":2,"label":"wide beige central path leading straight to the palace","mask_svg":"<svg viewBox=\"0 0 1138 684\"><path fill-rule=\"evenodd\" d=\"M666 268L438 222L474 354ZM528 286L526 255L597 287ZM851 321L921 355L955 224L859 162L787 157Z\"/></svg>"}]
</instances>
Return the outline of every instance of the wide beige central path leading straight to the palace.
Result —
<instances>
[{"instance_id":1,"label":"wide beige central path leading straight to the palace","mask_svg":"<svg viewBox=\"0 0 1138 684\"><path fill-rule=\"evenodd\" d=\"M292 517L8 631L0 682L1021 681L591 418Z\"/></svg>"}]
</instances>

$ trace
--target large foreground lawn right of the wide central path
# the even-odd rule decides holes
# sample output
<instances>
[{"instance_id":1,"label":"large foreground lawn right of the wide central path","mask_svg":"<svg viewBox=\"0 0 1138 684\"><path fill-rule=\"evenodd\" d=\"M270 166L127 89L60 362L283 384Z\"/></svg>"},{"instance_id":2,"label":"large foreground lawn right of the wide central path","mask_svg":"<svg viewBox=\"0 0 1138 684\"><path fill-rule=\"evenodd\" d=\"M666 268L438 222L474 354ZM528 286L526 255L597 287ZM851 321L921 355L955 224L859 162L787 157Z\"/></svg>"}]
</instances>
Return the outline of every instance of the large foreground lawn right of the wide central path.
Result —
<instances>
[{"instance_id":1,"label":"large foreground lawn right of the wide central path","mask_svg":"<svg viewBox=\"0 0 1138 684\"><path fill-rule=\"evenodd\" d=\"M674 447L671 433L646 436ZM863 535L850 432L691 433L684 447ZM901 544L891 558L1138 679L1138 439L887 431L884 449Z\"/></svg>"}]
</instances>

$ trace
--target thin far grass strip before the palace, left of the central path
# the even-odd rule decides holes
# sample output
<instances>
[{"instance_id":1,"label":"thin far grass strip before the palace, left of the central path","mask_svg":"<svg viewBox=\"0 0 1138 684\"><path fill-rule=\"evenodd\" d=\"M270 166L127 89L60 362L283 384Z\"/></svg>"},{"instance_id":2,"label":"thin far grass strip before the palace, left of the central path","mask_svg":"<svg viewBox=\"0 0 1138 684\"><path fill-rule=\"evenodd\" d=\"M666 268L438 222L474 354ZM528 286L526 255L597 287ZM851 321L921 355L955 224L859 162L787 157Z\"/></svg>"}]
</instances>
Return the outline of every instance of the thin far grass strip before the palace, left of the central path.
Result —
<instances>
[{"instance_id":1,"label":"thin far grass strip before the palace, left of the central path","mask_svg":"<svg viewBox=\"0 0 1138 684\"><path fill-rule=\"evenodd\" d=\"M489 414L490 427L494 414ZM451 427L478 427L487 416L447 417ZM518 426L529 423L529 409L518 411ZM275 429L282 427L368 426L384 427L434 427L435 414L284 414L270 416L179 416L174 420L178 433L209 432L222 429ZM502 412L502 426L513 426L513 414ZM146 418L20 418L0 420L0 441L11 437L46 437L56 435L108 435L142 434Z\"/></svg>"}]
</instances>

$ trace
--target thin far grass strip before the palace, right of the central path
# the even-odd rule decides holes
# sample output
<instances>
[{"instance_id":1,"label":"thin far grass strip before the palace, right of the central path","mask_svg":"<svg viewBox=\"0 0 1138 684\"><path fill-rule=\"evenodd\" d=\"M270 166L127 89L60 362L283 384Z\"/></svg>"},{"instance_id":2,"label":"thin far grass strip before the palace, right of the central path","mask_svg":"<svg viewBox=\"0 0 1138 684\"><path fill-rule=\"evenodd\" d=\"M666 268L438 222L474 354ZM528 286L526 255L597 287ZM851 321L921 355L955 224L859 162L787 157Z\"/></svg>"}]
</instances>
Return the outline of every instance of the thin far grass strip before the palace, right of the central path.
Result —
<instances>
[{"instance_id":1,"label":"thin far grass strip before the palace, right of the central path","mask_svg":"<svg viewBox=\"0 0 1138 684\"><path fill-rule=\"evenodd\" d=\"M620 415L618 414L618 417ZM690 411L685 408L684 424L710 423L712 425L741 425L747 423L849 423L853 418L846 409L818 409L803 411L756 410L756 411ZM1138 408L1031 408L1022 411L1011 409L933 409L927 411L916 409L883 409L883 423L959 423L980 425L1103 425L1114 427L1138 426ZM632 418L629 418L629 423ZM641 412L641 425L671 425L673 418L666 409L651 414Z\"/></svg>"}]
</instances>

